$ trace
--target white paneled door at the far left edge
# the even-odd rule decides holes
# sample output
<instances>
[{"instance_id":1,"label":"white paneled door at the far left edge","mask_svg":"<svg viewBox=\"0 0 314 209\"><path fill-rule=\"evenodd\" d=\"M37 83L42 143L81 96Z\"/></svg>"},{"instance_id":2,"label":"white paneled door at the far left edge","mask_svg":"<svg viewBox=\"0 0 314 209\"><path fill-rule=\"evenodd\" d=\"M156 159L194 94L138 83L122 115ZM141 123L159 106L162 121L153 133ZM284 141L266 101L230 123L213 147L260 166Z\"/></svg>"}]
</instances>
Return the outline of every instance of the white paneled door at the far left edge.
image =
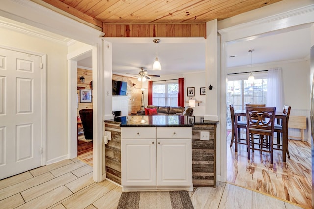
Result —
<instances>
[{"instance_id":1,"label":"white paneled door at the far left edge","mask_svg":"<svg viewBox=\"0 0 314 209\"><path fill-rule=\"evenodd\" d=\"M42 58L0 48L0 179L41 166Z\"/></svg>"}]
</instances>

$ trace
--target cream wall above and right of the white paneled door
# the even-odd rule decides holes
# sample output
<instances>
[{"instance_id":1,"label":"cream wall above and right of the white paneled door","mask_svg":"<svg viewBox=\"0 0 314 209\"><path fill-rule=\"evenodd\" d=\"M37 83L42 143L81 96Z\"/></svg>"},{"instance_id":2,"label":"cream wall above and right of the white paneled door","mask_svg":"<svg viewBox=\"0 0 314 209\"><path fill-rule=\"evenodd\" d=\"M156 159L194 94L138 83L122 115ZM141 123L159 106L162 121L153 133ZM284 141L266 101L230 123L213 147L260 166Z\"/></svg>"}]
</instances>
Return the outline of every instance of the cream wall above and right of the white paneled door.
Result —
<instances>
[{"instance_id":1,"label":"cream wall above and right of the white paneled door","mask_svg":"<svg viewBox=\"0 0 314 209\"><path fill-rule=\"evenodd\" d=\"M1 28L0 45L47 54L46 160L68 153L66 44Z\"/></svg>"}]
</instances>

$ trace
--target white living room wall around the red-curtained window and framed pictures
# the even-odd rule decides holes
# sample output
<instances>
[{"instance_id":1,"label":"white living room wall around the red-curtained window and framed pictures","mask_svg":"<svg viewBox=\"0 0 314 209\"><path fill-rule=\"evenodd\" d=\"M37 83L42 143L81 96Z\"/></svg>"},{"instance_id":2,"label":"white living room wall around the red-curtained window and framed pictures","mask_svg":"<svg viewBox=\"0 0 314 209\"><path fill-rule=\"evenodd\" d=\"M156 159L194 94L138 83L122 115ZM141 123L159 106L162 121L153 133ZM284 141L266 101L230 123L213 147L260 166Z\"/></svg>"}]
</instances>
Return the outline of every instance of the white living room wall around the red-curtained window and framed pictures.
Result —
<instances>
[{"instance_id":1,"label":"white living room wall around the red-curtained window and framed pictures","mask_svg":"<svg viewBox=\"0 0 314 209\"><path fill-rule=\"evenodd\" d=\"M184 98L185 98L185 101L189 100L189 97L186 96L187 95L187 92L186 92L187 87L194 87L195 88L194 99L196 101L202 101L200 103L200 106L198 106L197 103L195 104L195 107L193 108L194 109L193 115L194 116L204 116L205 115L205 105L206 105L205 96L200 95L200 88L206 87L206 91L209 91L209 89L205 83L205 71L204 72L193 72L193 73L160 76L160 78L153 78L153 81L164 81L164 80L178 79L178 78L184 78L184 95L185 95ZM145 83L148 83L148 82L145 82ZM147 88L147 87L144 87L144 88ZM145 95L145 101L148 101L147 93L144 95ZM188 106L188 103L185 103L185 106Z\"/></svg>"}]
</instances>

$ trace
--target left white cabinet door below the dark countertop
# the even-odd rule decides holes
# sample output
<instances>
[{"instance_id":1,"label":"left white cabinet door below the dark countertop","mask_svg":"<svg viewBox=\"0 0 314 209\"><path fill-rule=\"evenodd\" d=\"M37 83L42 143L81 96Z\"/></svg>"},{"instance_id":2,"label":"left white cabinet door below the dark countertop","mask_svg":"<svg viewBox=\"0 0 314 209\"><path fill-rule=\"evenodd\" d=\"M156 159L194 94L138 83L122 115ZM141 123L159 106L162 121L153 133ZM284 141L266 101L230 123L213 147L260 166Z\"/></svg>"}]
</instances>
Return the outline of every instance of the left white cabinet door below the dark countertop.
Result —
<instances>
[{"instance_id":1,"label":"left white cabinet door below the dark countertop","mask_svg":"<svg viewBox=\"0 0 314 209\"><path fill-rule=\"evenodd\" d=\"M156 186L156 139L121 139L122 186Z\"/></svg>"}]
</instances>

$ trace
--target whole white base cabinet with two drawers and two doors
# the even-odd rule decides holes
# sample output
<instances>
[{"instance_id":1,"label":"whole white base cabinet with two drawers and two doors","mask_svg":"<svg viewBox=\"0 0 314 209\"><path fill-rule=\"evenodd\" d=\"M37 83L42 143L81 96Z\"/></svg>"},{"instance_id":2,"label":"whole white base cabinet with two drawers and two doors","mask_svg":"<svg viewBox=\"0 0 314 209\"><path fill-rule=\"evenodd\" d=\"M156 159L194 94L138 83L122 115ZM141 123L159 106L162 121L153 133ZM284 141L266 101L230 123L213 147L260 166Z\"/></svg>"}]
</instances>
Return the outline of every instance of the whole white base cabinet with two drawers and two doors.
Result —
<instances>
[{"instance_id":1,"label":"whole white base cabinet with two drawers and two doors","mask_svg":"<svg viewBox=\"0 0 314 209\"><path fill-rule=\"evenodd\" d=\"M191 127L122 127L123 189L191 190L191 135Z\"/></svg>"}]
</instances>

